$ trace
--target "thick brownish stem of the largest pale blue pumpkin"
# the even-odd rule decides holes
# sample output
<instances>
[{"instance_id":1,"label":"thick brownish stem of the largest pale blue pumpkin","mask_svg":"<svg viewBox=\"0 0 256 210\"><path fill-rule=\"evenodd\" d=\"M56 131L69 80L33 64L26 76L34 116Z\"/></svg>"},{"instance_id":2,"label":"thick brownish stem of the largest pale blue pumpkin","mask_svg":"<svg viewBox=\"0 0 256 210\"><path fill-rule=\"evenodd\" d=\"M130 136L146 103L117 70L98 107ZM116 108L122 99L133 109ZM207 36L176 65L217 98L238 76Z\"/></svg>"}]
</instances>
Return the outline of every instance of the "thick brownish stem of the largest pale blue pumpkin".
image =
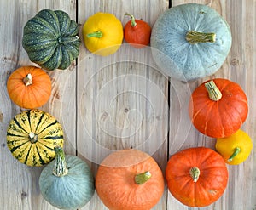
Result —
<instances>
[{"instance_id":1,"label":"thick brownish stem of the largest pale blue pumpkin","mask_svg":"<svg viewBox=\"0 0 256 210\"><path fill-rule=\"evenodd\" d=\"M188 31L186 40L191 43L214 43L216 41L215 33L202 33L198 31Z\"/></svg>"}]
</instances>

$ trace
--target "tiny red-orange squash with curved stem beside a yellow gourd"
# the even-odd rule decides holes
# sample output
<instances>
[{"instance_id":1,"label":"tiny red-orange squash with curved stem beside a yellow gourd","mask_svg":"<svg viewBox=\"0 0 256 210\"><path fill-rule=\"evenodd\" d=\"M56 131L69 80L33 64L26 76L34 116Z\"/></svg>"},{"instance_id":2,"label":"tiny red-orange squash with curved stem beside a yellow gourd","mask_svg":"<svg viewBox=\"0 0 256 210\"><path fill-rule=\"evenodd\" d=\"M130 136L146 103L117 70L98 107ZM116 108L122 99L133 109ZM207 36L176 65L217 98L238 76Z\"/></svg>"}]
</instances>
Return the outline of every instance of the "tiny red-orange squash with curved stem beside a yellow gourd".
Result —
<instances>
[{"instance_id":1,"label":"tiny red-orange squash with curved stem beside a yellow gourd","mask_svg":"<svg viewBox=\"0 0 256 210\"><path fill-rule=\"evenodd\" d=\"M151 27L144 20L136 20L132 14L126 13L131 17L125 24L125 41L134 48L144 48L150 42Z\"/></svg>"}]
</instances>

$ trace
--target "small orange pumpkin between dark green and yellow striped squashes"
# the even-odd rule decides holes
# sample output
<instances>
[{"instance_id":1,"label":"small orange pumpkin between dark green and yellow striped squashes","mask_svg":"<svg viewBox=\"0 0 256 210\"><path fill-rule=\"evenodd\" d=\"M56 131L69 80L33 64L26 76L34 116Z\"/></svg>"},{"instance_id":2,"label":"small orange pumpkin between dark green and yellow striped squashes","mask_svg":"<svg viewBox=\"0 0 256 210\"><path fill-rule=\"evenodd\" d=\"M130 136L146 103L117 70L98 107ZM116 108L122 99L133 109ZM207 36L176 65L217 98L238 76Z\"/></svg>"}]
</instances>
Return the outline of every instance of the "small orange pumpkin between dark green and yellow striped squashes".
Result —
<instances>
[{"instance_id":1,"label":"small orange pumpkin between dark green and yellow striped squashes","mask_svg":"<svg viewBox=\"0 0 256 210\"><path fill-rule=\"evenodd\" d=\"M35 66L22 66L9 76L7 91L10 99L22 108L34 109L44 105L51 94L48 74Z\"/></svg>"}]
</instances>

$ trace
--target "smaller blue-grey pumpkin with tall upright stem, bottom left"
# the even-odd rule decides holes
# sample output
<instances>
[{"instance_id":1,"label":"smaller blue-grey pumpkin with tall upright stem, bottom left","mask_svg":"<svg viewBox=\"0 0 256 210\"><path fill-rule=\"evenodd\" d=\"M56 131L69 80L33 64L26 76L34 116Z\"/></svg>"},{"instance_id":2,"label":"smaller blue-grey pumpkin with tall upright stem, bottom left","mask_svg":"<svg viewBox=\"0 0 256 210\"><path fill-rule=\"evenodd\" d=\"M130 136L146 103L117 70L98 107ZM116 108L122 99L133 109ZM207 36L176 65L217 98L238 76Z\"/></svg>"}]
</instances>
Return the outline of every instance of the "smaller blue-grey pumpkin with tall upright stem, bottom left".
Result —
<instances>
[{"instance_id":1,"label":"smaller blue-grey pumpkin with tall upright stem, bottom left","mask_svg":"<svg viewBox=\"0 0 256 210\"><path fill-rule=\"evenodd\" d=\"M55 160L40 174L39 188L44 199L60 209L84 207L95 192L87 163L78 156L65 156L60 146L55 146Z\"/></svg>"}]
</instances>

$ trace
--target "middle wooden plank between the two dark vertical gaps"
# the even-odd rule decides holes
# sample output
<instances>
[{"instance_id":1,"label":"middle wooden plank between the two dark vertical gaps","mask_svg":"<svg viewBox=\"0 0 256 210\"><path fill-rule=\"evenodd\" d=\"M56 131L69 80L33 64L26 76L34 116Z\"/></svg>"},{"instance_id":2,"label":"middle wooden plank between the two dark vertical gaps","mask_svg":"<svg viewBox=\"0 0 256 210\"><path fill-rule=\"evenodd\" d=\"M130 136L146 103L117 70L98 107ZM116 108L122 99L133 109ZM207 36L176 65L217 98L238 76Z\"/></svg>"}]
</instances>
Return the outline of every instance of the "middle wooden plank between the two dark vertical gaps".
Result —
<instances>
[{"instance_id":1,"label":"middle wooden plank between the two dark vertical gaps","mask_svg":"<svg viewBox=\"0 0 256 210\"><path fill-rule=\"evenodd\" d=\"M115 14L123 26L125 12L154 25L165 1L79 3L79 23L98 11ZM84 52L83 52L84 51ZM101 57L82 49L78 66L78 152L96 168L114 150L137 148L154 155L164 168L167 154L168 82L155 70L150 48L123 43ZM162 140L163 139L163 140ZM95 196L89 209L105 209ZM166 207L166 194L155 209Z\"/></svg>"}]
</instances>

